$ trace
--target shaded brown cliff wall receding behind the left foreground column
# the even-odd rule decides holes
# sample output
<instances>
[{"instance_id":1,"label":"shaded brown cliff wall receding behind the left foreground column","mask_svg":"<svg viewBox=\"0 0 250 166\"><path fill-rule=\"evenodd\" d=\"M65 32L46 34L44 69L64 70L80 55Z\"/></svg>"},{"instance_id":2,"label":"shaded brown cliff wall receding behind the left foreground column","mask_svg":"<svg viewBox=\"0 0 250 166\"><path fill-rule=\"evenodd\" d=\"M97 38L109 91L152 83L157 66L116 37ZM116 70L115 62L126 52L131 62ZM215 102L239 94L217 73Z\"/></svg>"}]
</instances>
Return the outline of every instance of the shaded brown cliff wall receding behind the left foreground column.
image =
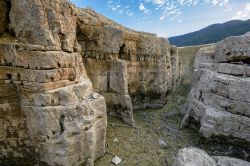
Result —
<instances>
[{"instance_id":1,"label":"shaded brown cliff wall receding behind the left foreground column","mask_svg":"<svg viewBox=\"0 0 250 166\"><path fill-rule=\"evenodd\" d=\"M172 89L172 72L179 67L173 52L172 69L168 41L125 28L91 9L78 10L78 15L77 39L84 64L108 108L133 124L132 109L163 106Z\"/></svg>"}]
</instances>

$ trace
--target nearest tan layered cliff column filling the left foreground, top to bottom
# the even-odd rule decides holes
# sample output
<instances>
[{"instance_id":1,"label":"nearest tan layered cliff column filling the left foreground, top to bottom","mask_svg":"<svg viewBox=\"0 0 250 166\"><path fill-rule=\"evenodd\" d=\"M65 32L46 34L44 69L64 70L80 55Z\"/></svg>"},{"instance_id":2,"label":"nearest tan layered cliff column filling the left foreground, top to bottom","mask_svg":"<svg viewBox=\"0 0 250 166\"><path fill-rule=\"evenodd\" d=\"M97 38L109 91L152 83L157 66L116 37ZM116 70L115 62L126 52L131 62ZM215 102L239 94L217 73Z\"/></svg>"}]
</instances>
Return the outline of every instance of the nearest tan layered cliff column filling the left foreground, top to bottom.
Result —
<instances>
[{"instance_id":1,"label":"nearest tan layered cliff column filling the left foreground, top to bottom","mask_svg":"<svg viewBox=\"0 0 250 166\"><path fill-rule=\"evenodd\" d=\"M105 152L106 102L74 52L74 10L64 0L11 1L21 42L0 43L0 165L93 165Z\"/></svg>"}]
</instances>

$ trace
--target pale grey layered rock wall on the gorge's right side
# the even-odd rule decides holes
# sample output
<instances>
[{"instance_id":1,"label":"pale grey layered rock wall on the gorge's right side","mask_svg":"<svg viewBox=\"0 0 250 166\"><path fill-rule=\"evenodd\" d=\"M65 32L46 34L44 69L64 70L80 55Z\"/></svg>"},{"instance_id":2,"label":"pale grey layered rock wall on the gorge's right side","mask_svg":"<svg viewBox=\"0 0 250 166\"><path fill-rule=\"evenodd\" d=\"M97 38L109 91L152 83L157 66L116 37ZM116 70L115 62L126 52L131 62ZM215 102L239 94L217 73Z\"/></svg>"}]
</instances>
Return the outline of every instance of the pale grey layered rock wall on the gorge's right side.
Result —
<instances>
[{"instance_id":1,"label":"pale grey layered rock wall on the gorge's right side","mask_svg":"<svg viewBox=\"0 0 250 166\"><path fill-rule=\"evenodd\" d=\"M183 125L192 117L205 137L250 141L250 33L227 38L196 57Z\"/></svg>"}]
</instances>

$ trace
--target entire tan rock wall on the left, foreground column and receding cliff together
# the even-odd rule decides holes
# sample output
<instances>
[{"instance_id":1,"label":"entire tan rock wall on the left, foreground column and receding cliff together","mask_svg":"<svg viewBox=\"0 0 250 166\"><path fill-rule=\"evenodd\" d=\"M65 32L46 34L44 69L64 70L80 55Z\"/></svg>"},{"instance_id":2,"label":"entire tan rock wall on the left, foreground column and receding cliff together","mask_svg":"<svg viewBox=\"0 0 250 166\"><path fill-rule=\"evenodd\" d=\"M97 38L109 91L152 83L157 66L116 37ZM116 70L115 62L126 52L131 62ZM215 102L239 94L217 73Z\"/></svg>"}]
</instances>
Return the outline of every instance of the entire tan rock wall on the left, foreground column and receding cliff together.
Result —
<instances>
[{"instance_id":1,"label":"entire tan rock wall on the left, foreground column and receding cliff together","mask_svg":"<svg viewBox=\"0 0 250 166\"><path fill-rule=\"evenodd\" d=\"M0 40L0 165L93 165L105 152L106 103L133 125L132 110L163 106L180 78L166 39L67 0L0 9L0 35L14 38Z\"/></svg>"}]
</instances>

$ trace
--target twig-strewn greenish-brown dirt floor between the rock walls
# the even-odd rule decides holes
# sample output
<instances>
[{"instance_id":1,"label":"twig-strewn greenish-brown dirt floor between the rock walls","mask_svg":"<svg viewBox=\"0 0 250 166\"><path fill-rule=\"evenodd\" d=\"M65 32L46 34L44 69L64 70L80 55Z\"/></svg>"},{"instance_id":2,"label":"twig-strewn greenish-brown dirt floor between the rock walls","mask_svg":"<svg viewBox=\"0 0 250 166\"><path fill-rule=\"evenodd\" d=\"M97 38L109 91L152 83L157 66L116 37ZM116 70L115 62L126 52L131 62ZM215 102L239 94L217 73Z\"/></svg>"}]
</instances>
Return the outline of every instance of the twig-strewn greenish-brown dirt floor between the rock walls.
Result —
<instances>
[{"instance_id":1,"label":"twig-strewn greenish-brown dirt floor between the rock walls","mask_svg":"<svg viewBox=\"0 0 250 166\"><path fill-rule=\"evenodd\" d=\"M162 109L135 111L136 127L108 117L107 152L96 166L109 166L114 156L122 159L121 166L171 166L181 148L195 146L199 134L192 129L180 129L182 108L189 91L188 85L178 87L168 96ZM166 146L160 146L164 140Z\"/></svg>"}]
</instances>

